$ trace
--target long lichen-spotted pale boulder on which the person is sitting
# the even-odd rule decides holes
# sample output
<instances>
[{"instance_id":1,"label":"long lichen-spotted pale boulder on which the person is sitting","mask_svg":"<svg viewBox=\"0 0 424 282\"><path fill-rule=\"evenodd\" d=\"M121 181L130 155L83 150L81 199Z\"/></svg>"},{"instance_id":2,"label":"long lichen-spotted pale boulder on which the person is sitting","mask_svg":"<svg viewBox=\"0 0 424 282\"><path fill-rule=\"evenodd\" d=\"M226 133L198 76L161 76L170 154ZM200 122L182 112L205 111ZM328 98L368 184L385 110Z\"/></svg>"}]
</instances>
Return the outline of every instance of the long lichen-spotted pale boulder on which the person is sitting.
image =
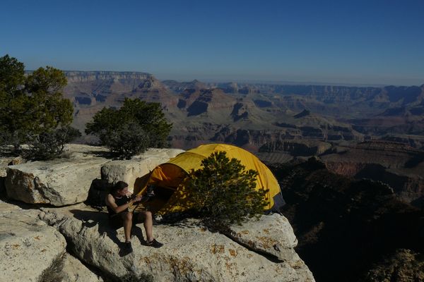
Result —
<instances>
[{"instance_id":1,"label":"long lichen-spotted pale boulder on which the person is sitting","mask_svg":"<svg viewBox=\"0 0 424 282\"><path fill-rule=\"evenodd\" d=\"M43 211L42 219L66 237L73 254L115 279L142 276L153 281L314 281L312 273L297 256L290 260L290 256L281 252L279 256L285 260L272 259L249 249L248 244L239 244L227 235L209 232L194 219L154 226L155 238L165 244L159 249L143 245L143 231L136 226L131 241L134 252L123 255L120 252L124 241L123 228L111 229L107 214L83 207L83 204L60 209L43 208ZM277 225L283 224L284 220L278 216L262 216L261 221L276 219L280 222ZM269 228L267 223L260 224ZM252 231L252 234L264 237L260 239L261 243L252 245L261 246L265 251L270 250L264 245L266 240L281 249L295 245L293 234L271 238L276 230L266 233L261 227L261 232ZM280 232L293 233L290 228ZM286 239L290 242L277 242ZM245 240L257 238L252 235Z\"/></svg>"}]
</instances>

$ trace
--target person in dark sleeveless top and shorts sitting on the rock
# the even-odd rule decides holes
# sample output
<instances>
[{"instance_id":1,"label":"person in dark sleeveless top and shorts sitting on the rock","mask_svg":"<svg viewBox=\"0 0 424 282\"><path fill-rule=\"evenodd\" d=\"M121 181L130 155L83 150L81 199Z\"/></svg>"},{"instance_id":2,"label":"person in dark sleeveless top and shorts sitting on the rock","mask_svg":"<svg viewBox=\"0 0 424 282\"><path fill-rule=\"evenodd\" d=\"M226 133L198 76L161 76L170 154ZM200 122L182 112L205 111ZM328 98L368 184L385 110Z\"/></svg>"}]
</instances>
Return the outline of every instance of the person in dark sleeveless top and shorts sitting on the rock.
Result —
<instances>
[{"instance_id":1,"label":"person in dark sleeveless top and shorts sitting on the rock","mask_svg":"<svg viewBox=\"0 0 424 282\"><path fill-rule=\"evenodd\" d=\"M128 190L128 184L124 181L118 181L106 196L107 211L109 212L110 223L113 228L120 228L124 226L125 246L131 252L131 228L135 223L143 222L144 229L146 230L146 245L151 247L162 247L163 244L153 239L153 217L152 213L129 212L128 207L131 204L140 202L143 197L137 195L132 197L131 192Z\"/></svg>"}]
</instances>

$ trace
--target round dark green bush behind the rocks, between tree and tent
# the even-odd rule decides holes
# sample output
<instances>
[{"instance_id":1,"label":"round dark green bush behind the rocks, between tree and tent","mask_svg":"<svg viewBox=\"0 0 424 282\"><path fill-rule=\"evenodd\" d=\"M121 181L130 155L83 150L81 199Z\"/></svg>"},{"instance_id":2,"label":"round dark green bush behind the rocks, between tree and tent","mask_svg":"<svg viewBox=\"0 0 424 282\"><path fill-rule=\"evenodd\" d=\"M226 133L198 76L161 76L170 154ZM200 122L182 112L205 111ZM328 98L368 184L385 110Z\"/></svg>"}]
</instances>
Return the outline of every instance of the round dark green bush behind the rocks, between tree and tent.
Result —
<instances>
[{"instance_id":1,"label":"round dark green bush behind the rocks, between tree and tent","mask_svg":"<svg viewBox=\"0 0 424 282\"><path fill-rule=\"evenodd\" d=\"M159 103L125 98L120 109L98 111L87 123L86 133L98 136L111 152L129 159L148 147L166 147L171 128Z\"/></svg>"}]
</instances>

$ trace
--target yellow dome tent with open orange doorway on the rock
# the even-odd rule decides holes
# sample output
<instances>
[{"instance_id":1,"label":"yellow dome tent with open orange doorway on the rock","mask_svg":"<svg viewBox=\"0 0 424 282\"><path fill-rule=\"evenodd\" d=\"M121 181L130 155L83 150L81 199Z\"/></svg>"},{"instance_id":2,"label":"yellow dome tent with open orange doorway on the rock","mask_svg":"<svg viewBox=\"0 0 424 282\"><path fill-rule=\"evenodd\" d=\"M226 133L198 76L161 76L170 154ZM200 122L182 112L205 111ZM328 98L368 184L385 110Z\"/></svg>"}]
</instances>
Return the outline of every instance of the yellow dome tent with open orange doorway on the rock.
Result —
<instances>
[{"instance_id":1,"label":"yellow dome tent with open orange doorway on the rock","mask_svg":"<svg viewBox=\"0 0 424 282\"><path fill-rule=\"evenodd\" d=\"M182 212L191 206L184 189L184 178L192 169L201 168L201 161L213 152L226 152L229 159L239 159L247 170L258 172L257 189L269 189L266 200L269 201L267 210L278 209L284 203L280 186L269 168L267 168L254 154L245 149L226 144L201 145L187 152L177 155L165 164L160 164L146 176L136 181L134 192L143 194L148 185L155 186L155 197L145 203L148 209L159 214Z\"/></svg>"}]
</instances>

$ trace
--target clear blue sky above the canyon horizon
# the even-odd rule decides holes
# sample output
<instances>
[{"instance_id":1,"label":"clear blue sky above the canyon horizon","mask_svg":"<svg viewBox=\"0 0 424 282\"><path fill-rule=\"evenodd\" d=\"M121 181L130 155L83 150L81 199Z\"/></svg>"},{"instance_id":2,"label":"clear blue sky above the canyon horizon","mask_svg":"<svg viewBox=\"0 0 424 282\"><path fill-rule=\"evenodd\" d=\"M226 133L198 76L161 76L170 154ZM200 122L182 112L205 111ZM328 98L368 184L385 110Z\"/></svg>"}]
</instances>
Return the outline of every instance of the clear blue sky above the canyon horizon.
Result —
<instances>
[{"instance_id":1,"label":"clear blue sky above the canyon horizon","mask_svg":"<svg viewBox=\"0 0 424 282\"><path fill-rule=\"evenodd\" d=\"M0 56L28 70L422 85L423 15L423 0L2 0Z\"/></svg>"}]
</instances>

